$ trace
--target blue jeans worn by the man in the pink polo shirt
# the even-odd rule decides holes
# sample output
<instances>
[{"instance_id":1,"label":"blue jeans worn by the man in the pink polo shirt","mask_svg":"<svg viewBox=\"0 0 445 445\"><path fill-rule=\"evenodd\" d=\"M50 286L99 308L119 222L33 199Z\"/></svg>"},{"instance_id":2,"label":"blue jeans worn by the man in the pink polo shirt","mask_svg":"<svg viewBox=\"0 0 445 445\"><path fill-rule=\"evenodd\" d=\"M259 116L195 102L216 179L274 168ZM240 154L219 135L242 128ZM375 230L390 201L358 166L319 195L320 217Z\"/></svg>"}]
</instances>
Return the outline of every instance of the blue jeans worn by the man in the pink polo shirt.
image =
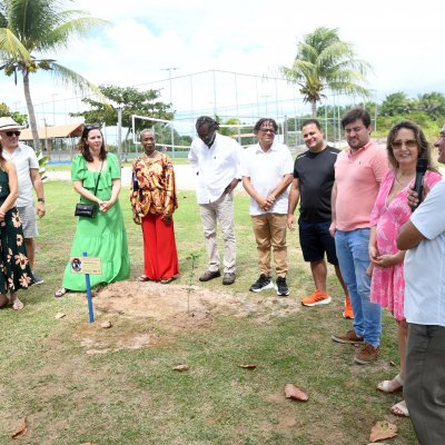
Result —
<instances>
[{"instance_id":1,"label":"blue jeans worn by the man in the pink polo shirt","mask_svg":"<svg viewBox=\"0 0 445 445\"><path fill-rule=\"evenodd\" d=\"M369 300L370 278L366 275L368 244L368 228L335 233L338 263L354 310L354 330L364 337L365 343L377 347L380 344L382 307Z\"/></svg>"}]
</instances>

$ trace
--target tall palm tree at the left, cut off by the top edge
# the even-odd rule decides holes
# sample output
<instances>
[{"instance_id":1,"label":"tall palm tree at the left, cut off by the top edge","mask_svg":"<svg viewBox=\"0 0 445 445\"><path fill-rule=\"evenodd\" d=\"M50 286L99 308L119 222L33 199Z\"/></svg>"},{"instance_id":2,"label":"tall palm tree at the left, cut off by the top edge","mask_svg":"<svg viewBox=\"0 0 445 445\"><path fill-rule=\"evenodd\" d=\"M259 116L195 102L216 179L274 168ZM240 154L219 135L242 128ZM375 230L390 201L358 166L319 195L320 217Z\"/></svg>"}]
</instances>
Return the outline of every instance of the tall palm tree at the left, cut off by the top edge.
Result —
<instances>
[{"instance_id":1,"label":"tall palm tree at the left, cut off by the top edge","mask_svg":"<svg viewBox=\"0 0 445 445\"><path fill-rule=\"evenodd\" d=\"M30 75L38 70L51 71L65 83L81 92L93 91L103 100L97 87L82 76L41 57L68 46L72 36L85 36L92 28L107 23L90 18L79 10L60 10L59 0L0 0L0 70L7 76L21 73L29 123L34 149L39 148L39 136L34 108L30 92Z\"/></svg>"}]
</instances>

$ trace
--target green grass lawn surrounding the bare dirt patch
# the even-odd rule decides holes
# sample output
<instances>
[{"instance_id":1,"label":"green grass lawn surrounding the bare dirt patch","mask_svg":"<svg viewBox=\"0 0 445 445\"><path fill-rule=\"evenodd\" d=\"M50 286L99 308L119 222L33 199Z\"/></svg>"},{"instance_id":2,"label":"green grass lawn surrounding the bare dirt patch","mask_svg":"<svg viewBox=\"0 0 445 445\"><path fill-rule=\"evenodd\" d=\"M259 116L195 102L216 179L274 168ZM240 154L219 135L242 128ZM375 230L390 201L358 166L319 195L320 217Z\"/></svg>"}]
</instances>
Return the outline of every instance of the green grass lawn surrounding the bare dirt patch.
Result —
<instances>
[{"instance_id":1,"label":"green grass lawn surrounding the bare dirt patch","mask_svg":"<svg viewBox=\"0 0 445 445\"><path fill-rule=\"evenodd\" d=\"M44 284L21 293L23 310L0 310L1 444L358 445L369 442L370 427L378 419L398 426L392 444L416 443L409 419L389 413L400 395L376 390L377 382L398 372L390 364L398 364L395 322L385 314L378 363L354 365L355 348L330 339L332 333L350 328L340 316L343 296L332 269L334 301L328 306L301 308L296 315L263 323L255 316L227 313L216 315L208 327L162 337L156 346L87 354L85 333L96 333L98 338L162 335L162 326L155 326L149 317L130 319L123 314L105 330L98 323L88 324L83 296L53 297L69 258L78 196L69 182L53 181L46 184L46 199L36 267ZM135 279L142 271L141 233L131 220L128 190L120 199ZM247 196L239 192L235 206L238 279L224 289L220 280L199 285L227 291L228 297L283 304L271 293L248 291L258 271ZM195 192L179 194L175 228L181 270L175 285L189 285L190 254L198 255L197 285L207 261ZM288 234L288 300L298 303L313 290L313 283L296 233ZM56 319L57 313L67 317ZM179 363L190 369L171 370ZM250 363L257 367L238 366ZM309 400L286 399L287 383L307 390ZM11 434L23 417L28 432L13 441Z\"/></svg>"}]
</instances>

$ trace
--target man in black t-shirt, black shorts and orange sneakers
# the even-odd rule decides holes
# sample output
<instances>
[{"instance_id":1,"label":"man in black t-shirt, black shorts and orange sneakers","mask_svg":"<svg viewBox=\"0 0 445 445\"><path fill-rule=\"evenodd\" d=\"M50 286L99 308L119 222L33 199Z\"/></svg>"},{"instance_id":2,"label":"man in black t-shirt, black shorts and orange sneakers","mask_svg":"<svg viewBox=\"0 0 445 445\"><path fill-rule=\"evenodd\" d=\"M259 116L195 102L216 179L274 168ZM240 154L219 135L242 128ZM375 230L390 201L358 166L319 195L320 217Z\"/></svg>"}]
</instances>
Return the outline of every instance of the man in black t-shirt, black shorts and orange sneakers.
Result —
<instances>
[{"instance_id":1,"label":"man in black t-shirt, black shorts and orange sneakers","mask_svg":"<svg viewBox=\"0 0 445 445\"><path fill-rule=\"evenodd\" d=\"M310 263L315 291L304 298L304 306L327 305L332 298L326 290L327 265L334 265L338 281L345 293L345 318L354 318L347 287L342 278L335 251L335 240L329 234L330 194L334 186L334 164L339 150L329 147L317 119L307 119L301 125L303 139L307 151L297 156L294 166L294 181L289 194L287 226L295 229L294 211L300 201L298 219L299 241L305 261Z\"/></svg>"}]
</instances>

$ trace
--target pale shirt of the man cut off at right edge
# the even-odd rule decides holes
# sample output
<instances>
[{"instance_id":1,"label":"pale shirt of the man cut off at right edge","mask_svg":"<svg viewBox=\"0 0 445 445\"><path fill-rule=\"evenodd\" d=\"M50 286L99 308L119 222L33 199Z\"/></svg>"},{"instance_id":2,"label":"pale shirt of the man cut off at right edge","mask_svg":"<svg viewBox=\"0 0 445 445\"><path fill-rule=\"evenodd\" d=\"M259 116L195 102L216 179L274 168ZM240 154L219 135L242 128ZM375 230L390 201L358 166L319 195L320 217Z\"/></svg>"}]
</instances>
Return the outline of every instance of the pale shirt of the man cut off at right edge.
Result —
<instances>
[{"instance_id":1,"label":"pale shirt of the man cut off at right edge","mask_svg":"<svg viewBox=\"0 0 445 445\"><path fill-rule=\"evenodd\" d=\"M405 256L405 318L417 325L445 327L444 180L434 186L409 220L427 239Z\"/></svg>"}]
</instances>

